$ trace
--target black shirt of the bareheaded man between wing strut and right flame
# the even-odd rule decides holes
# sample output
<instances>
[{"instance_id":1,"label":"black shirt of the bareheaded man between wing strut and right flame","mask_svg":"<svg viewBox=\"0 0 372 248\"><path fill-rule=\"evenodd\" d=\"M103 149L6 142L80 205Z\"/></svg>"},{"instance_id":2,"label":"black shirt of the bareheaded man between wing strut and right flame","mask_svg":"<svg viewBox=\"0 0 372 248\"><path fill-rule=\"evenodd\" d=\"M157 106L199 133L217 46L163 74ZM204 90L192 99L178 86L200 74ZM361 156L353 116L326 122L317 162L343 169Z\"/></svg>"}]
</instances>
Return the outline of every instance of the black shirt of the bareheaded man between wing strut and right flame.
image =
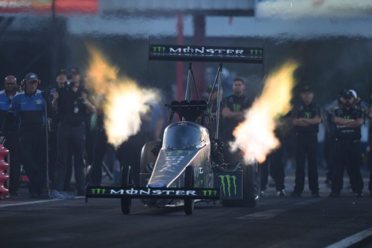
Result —
<instances>
[{"instance_id":1,"label":"black shirt of the bareheaded man between wing strut and right flame","mask_svg":"<svg viewBox=\"0 0 372 248\"><path fill-rule=\"evenodd\" d=\"M231 95L222 100L221 109L227 107L232 112L241 112L247 110L252 105L252 102L248 99L246 95L237 96ZM222 130L221 133L226 139L231 139L233 137L233 130L234 128L240 123L241 121L231 118L222 118L221 125Z\"/></svg>"}]
</instances>

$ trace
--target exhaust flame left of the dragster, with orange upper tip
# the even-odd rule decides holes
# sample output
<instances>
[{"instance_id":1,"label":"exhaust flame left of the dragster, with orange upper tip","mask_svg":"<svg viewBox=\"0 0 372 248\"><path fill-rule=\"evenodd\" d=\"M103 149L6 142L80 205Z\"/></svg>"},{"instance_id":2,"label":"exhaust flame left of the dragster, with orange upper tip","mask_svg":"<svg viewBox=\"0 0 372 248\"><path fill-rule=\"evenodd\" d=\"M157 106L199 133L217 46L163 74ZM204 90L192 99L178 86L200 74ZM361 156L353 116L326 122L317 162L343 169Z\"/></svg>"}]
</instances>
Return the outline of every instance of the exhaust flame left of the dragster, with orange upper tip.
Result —
<instances>
[{"instance_id":1,"label":"exhaust flame left of the dragster, with orange upper tip","mask_svg":"<svg viewBox=\"0 0 372 248\"><path fill-rule=\"evenodd\" d=\"M104 125L108 142L116 148L140 130L141 115L157 103L159 94L154 89L141 89L127 77L118 77L118 68L105 59L96 49L88 47L90 64L87 86L97 93L96 103L105 115Z\"/></svg>"}]
</instances>

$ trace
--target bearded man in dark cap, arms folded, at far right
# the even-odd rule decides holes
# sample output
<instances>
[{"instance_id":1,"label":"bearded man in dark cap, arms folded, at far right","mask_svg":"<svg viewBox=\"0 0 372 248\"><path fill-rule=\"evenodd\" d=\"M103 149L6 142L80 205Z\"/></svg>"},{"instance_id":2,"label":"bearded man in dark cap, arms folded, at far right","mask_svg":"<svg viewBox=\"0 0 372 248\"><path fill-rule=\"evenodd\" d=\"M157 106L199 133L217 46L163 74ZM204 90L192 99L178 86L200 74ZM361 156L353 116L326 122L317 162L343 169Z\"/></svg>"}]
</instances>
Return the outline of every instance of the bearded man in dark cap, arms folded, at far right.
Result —
<instances>
[{"instance_id":1,"label":"bearded man in dark cap, arms folded, at far right","mask_svg":"<svg viewBox=\"0 0 372 248\"><path fill-rule=\"evenodd\" d=\"M350 183L356 197L362 197L361 178L361 126L364 124L364 111L353 105L355 98L351 91L344 93L343 106L334 111L333 123L336 124L335 172L332 192L329 197L339 197L343 187L345 167L349 167Z\"/></svg>"}]
</instances>

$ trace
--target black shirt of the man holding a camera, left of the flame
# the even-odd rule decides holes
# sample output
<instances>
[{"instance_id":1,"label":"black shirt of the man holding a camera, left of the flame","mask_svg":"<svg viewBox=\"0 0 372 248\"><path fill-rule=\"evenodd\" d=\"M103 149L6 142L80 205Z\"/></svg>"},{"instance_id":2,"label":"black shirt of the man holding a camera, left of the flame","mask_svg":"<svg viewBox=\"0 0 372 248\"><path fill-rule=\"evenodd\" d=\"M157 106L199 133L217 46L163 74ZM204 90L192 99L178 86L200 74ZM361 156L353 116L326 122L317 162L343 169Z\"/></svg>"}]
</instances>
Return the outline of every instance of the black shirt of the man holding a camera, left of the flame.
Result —
<instances>
[{"instance_id":1,"label":"black shirt of the man holding a camera, left of the flame","mask_svg":"<svg viewBox=\"0 0 372 248\"><path fill-rule=\"evenodd\" d=\"M60 123L71 126L82 124L86 117L86 107L82 103L82 88L74 92L69 87L59 88L58 90L58 116Z\"/></svg>"}]
</instances>

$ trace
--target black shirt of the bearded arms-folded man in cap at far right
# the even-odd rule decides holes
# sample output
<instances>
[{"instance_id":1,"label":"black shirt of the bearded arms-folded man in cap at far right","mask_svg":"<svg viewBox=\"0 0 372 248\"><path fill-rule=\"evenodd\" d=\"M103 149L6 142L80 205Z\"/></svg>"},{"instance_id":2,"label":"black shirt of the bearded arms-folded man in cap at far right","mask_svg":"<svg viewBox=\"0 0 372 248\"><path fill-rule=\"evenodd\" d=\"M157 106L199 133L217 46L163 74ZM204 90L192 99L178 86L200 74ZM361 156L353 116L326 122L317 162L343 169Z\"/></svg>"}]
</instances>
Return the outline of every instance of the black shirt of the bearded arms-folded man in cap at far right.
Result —
<instances>
[{"instance_id":1,"label":"black shirt of the bearded arms-folded man in cap at far right","mask_svg":"<svg viewBox=\"0 0 372 248\"><path fill-rule=\"evenodd\" d=\"M343 119L357 120L364 118L364 111L357 106L346 109L344 106L333 112L334 117ZM356 140L362 137L361 127L337 127L336 138L339 140Z\"/></svg>"}]
</instances>

